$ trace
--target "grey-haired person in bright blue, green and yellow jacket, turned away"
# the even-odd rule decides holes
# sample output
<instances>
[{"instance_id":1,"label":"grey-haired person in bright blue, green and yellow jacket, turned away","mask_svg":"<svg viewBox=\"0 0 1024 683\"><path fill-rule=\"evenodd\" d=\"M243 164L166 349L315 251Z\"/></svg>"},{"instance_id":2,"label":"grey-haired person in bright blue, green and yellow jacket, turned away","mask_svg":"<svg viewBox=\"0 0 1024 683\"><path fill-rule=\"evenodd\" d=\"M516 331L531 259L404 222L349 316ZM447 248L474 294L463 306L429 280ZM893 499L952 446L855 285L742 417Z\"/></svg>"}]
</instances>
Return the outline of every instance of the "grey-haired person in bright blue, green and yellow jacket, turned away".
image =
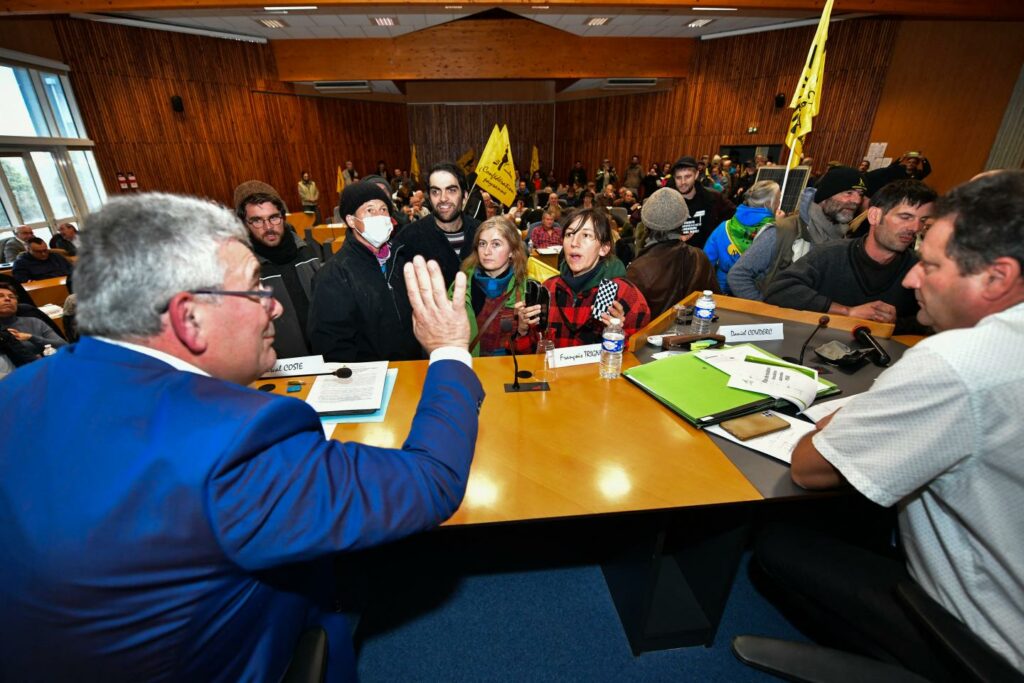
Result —
<instances>
[{"instance_id":1,"label":"grey-haired person in bright blue, green and yellow jacket, turned away","mask_svg":"<svg viewBox=\"0 0 1024 683\"><path fill-rule=\"evenodd\" d=\"M754 238L766 225L772 225L781 201L781 187L774 180L762 180L743 195L735 215L715 228L705 243L705 254L715 266L722 294L732 294L727 275L729 268L751 247Z\"/></svg>"}]
</instances>

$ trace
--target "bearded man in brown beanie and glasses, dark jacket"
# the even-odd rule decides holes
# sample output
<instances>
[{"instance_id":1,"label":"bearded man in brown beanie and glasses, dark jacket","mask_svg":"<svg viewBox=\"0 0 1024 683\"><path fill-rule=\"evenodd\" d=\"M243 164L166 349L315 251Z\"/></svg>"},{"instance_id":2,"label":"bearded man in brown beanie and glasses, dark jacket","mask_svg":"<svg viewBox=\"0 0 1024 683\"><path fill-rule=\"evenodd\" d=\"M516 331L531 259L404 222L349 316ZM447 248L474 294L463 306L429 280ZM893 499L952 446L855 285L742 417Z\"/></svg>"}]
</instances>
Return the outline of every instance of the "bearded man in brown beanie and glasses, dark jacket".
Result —
<instances>
[{"instance_id":1,"label":"bearded man in brown beanie and glasses, dark jacket","mask_svg":"<svg viewBox=\"0 0 1024 683\"><path fill-rule=\"evenodd\" d=\"M282 318L293 315L295 318L291 335L280 334L279 323L273 350L279 358L308 355L309 300L319 259L285 222L288 209L270 185L250 180L236 187L234 210L249 230L253 253L259 261L260 280L273 288L274 296L285 308Z\"/></svg>"}]
</instances>

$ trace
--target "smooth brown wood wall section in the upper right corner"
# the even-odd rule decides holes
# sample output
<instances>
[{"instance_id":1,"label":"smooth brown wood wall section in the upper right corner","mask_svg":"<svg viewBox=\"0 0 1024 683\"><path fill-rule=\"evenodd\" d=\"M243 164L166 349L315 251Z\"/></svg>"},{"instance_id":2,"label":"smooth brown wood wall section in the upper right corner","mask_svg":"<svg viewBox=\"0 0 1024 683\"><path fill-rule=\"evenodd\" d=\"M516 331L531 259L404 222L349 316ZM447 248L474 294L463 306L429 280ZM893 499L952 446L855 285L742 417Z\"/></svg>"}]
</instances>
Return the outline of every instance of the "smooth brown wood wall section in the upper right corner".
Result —
<instances>
[{"instance_id":1,"label":"smooth brown wood wall section in the upper right corner","mask_svg":"<svg viewBox=\"0 0 1024 683\"><path fill-rule=\"evenodd\" d=\"M939 191L982 171L1024 63L1022 29L901 23L871 140L888 142L894 157L923 152Z\"/></svg>"}]
</instances>

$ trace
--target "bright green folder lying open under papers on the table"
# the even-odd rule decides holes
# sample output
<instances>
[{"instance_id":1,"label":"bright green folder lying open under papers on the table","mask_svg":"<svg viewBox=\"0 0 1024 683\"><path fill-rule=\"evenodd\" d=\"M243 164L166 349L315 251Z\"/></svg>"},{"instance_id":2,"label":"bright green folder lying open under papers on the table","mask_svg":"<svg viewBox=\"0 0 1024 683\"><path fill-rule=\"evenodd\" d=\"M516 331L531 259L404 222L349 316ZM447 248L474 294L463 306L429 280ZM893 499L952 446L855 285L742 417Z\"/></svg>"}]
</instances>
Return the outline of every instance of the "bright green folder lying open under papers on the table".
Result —
<instances>
[{"instance_id":1,"label":"bright green folder lying open under papers on the table","mask_svg":"<svg viewBox=\"0 0 1024 683\"><path fill-rule=\"evenodd\" d=\"M753 344L738 346L757 348L778 358ZM623 375L696 427L787 404L763 393L726 386L729 376L698 358L696 351L630 368ZM839 393L839 387L831 382L818 381L826 385L818 391L818 398Z\"/></svg>"}]
</instances>

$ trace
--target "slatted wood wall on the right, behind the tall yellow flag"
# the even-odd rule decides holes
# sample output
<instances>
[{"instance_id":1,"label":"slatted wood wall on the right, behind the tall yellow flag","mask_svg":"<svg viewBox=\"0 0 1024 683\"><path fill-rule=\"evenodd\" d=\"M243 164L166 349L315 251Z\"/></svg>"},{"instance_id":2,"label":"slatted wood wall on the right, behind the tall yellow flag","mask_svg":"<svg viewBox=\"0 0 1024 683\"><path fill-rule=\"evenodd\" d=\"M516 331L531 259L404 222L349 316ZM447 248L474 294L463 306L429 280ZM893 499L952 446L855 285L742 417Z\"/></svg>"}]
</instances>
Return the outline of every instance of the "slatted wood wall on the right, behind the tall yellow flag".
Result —
<instances>
[{"instance_id":1,"label":"slatted wood wall on the right, behind the tall yellow flag","mask_svg":"<svg viewBox=\"0 0 1024 683\"><path fill-rule=\"evenodd\" d=\"M897 22L834 24L820 114L805 154L823 169L828 160L855 164L867 151ZM581 159L589 171L604 157L622 171L633 154L644 165L684 154L715 154L719 145L780 144L815 27L699 43L691 76L668 92L559 102L555 168ZM785 95L775 109L776 93ZM749 134L751 126L757 133Z\"/></svg>"}]
</instances>

